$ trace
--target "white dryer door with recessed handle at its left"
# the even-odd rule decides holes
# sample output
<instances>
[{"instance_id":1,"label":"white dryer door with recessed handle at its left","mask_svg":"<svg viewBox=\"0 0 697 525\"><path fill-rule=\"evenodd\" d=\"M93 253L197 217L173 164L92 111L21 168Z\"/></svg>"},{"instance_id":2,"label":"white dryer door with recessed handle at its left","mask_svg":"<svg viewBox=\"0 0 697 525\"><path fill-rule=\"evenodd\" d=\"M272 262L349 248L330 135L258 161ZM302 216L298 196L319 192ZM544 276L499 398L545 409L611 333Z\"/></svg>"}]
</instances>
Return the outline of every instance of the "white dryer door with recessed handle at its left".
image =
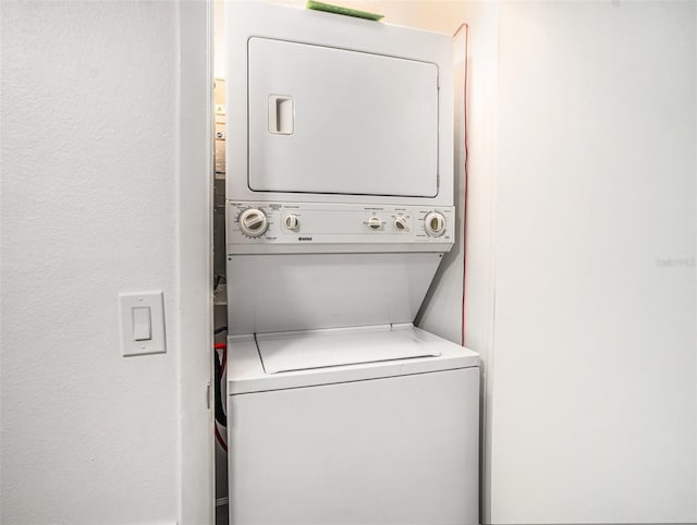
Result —
<instances>
[{"instance_id":1,"label":"white dryer door with recessed handle at its left","mask_svg":"<svg viewBox=\"0 0 697 525\"><path fill-rule=\"evenodd\" d=\"M250 38L248 141L253 191L433 197L438 68Z\"/></svg>"}]
</instances>

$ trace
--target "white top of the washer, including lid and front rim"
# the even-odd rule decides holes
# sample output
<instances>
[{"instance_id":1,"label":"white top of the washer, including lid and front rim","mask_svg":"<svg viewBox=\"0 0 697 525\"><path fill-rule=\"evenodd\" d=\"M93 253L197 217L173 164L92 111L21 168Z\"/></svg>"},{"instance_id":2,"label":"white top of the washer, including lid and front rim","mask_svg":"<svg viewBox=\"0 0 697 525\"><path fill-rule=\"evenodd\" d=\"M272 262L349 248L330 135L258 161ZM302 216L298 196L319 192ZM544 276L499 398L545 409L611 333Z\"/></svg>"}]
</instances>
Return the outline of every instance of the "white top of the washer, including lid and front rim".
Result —
<instances>
[{"instance_id":1,"label":"white top of the washer, including lid and front rim","mask_svg":"<svg viewBox=\"0 0 697 525\"><path fill-rule=\"evenodd\" d=\"M476 367L479 355L408 325L228 338L228 394Z\"/></svg>"}]
</instances>

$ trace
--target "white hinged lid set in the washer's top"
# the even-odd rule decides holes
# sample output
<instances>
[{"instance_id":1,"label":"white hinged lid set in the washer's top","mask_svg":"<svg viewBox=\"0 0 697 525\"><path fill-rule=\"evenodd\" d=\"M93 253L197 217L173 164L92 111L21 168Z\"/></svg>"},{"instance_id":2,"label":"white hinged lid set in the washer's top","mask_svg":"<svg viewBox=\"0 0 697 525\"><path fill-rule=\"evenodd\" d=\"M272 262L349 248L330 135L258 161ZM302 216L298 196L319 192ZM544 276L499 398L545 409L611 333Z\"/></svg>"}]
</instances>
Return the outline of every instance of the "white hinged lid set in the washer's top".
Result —
<instances>
[{"instance_id":1,"label":"white hinged lid set in the washer's top","mask_svg":"<svg viewBox=\"0 0 697 525\"><path fill-rule=\"evenodd\" d=\"M257 347L267 374L441 355L413 330L383 328L360 332L265 333L257 335Z\"/></svg>"}]
</instances>

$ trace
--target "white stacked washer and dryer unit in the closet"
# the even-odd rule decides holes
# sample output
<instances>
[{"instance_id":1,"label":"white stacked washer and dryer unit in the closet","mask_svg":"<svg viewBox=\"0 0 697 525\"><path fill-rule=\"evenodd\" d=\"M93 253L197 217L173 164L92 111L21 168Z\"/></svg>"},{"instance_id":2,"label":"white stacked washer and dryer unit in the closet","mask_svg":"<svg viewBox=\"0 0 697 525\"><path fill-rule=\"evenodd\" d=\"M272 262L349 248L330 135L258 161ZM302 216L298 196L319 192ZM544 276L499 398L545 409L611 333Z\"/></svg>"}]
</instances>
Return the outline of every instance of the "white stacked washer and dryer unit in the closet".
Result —
<instances>
[{"instance_id":1,"label":"white stacked washer and dryer unit in the closet","mask_svg":"<svg viewBox=\"0 0 697 525\"><path fill-rule=\"evenodd\" d=\"M477 523L478 356L412 323L454 242L452 39L225 17L230 523Z\"/></svg>"}]
</instances>

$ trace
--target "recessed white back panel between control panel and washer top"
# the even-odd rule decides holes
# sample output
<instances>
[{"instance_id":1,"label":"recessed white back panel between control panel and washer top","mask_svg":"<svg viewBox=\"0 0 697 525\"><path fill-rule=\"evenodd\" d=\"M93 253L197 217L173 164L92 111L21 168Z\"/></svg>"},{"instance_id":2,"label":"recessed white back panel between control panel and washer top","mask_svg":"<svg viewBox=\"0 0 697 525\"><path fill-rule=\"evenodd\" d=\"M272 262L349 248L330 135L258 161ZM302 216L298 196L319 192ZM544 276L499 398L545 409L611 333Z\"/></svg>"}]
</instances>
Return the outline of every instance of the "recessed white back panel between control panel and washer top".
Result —
<instances>
[{"instance_id":1,"label":"recessed white back panel between control panel and washer top","mask_svg":"<svg viewBox=\"0 0 697 525\"><path fill-rule=\"evenodd\" d=\"M433 253L228 257L228 333L412 322Z\"/></svg>"}]
</instances>

